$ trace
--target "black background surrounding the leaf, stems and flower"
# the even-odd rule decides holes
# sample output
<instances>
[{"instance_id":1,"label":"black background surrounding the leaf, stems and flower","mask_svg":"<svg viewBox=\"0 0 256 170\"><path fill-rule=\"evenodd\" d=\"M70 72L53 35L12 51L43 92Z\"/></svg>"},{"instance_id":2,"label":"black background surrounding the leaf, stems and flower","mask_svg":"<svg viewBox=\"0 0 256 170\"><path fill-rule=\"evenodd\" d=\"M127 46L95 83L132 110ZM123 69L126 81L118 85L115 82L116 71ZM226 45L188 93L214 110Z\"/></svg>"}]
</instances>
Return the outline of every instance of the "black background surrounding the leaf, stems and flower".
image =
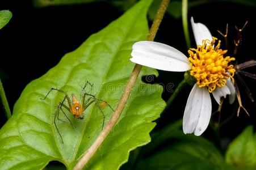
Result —
<instances>
[{"instance_id":1,"label":"black background surrounding the leaf, stems and flower","mask_svg":"<svg viewBox=\"0 0 256 170\"><path fill-rule=\"evenodd\" d=\"M46 8L35 8L31 1L0 1L1 10L10 10L12 19L10 23L0 30L0 77L5 87L7 99L12 110L15 101L19 98L24 87L31 80L39 78L49 69L55 66L58 61L68 53L76 49L92 33L100 31L106 25L118 18L123 11L107 2L89 3L85 5L52 6ZM229 44L233 45L237 32L234 25L242 27L246 20L249 23L242 32L242 45L238 52L238 63L255 59L255 6L245 6L236 3L211 2L204 5L190 8L188 16L194 16L195 22L207 25L212 35L221 39L217 30L225 31L226 23L229 24ZM190 30L192 37L192 32ZM195 46L192 38L192 46ZM221 39L223 40L223 39ZM182 20L174 19L165 15L157 34L156 41L174 46L187 54L187 47L184 41ZM224 45L223 41L223 45ZM233 49L230 48L230 51ZM255 73L255 67L249 69ZM256 80L245 78L244 80L255 96ZM160 71L156 78L157 83L174 83L174 89L183 79L183 73L170 73ZM238 83L239 84L239 83ZM182 118L186 100L191 87L184 88L181 94L175 99L173 105L162 114L157 120L160 129L166 124ZM219 114L212 118L211 127L205 131L204 136L212 139L216 145L225 149L229 141L236 137L250 124L255 124L255 103L251 103L245 94L244 87L240 86L242 102L250 113L248 117L241 110L240 117L236 116L237 104L232 107L224 101L220 121L234 116L231 121L215 131L213 128L218 122ZM171 93L163 93L163 99L167 100ZM214 100L213 112L217 110ZM237 101L236 101L237 103ZM230 109L232 108L232 109ZM0 127L7 121L1 108ZM216 138L216 136L218 138ZM216 141L216 140L219 141ZM228 142L223 142L228 141Z\"/></svg>"}]
</instances>

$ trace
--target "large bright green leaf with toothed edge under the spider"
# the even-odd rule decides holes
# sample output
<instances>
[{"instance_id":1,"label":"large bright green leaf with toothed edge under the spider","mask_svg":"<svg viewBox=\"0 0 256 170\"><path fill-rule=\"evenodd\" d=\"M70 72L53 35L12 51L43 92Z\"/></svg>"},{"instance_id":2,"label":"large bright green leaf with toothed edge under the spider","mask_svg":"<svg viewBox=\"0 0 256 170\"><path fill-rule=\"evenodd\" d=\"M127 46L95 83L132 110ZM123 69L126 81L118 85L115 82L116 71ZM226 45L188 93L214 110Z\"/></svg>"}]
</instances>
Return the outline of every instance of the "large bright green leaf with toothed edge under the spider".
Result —
<instances>
[{"instance_id":1,"label":"large bright green leaf with toothed edge under the spider","mask_svg":"<svg viewBox=\"0 0 256 170\"><path fill-rule=\"evenodd\" d=\"M83 120L65 110L75 127L60 114L61 120L66 121L56 121L62 143L53 118L64 95L52 91L46 100L40 98L52 87L67 91L69 96L79 96L81 86L89 80L94 84L91 94L115 108L135 65L129 61L132 45L148 35L149 5L148 0L140 1L66 54L47 74L27 85L15 104L13 116L0 130L0 169L41 169L52 160L64 163L68 169L74 167L102 131L103 116L95 104L86 109ZM127 162L129 151L150 142L149 132L156 125L152 121L160 117L165 102L161 99L161 86L141 81L141 76L148 74L158 73L142 68L119 121L87 169L117 169ZM106 107L103 112L106 125L112 111Z\"/></svg>"}]
</instances>

